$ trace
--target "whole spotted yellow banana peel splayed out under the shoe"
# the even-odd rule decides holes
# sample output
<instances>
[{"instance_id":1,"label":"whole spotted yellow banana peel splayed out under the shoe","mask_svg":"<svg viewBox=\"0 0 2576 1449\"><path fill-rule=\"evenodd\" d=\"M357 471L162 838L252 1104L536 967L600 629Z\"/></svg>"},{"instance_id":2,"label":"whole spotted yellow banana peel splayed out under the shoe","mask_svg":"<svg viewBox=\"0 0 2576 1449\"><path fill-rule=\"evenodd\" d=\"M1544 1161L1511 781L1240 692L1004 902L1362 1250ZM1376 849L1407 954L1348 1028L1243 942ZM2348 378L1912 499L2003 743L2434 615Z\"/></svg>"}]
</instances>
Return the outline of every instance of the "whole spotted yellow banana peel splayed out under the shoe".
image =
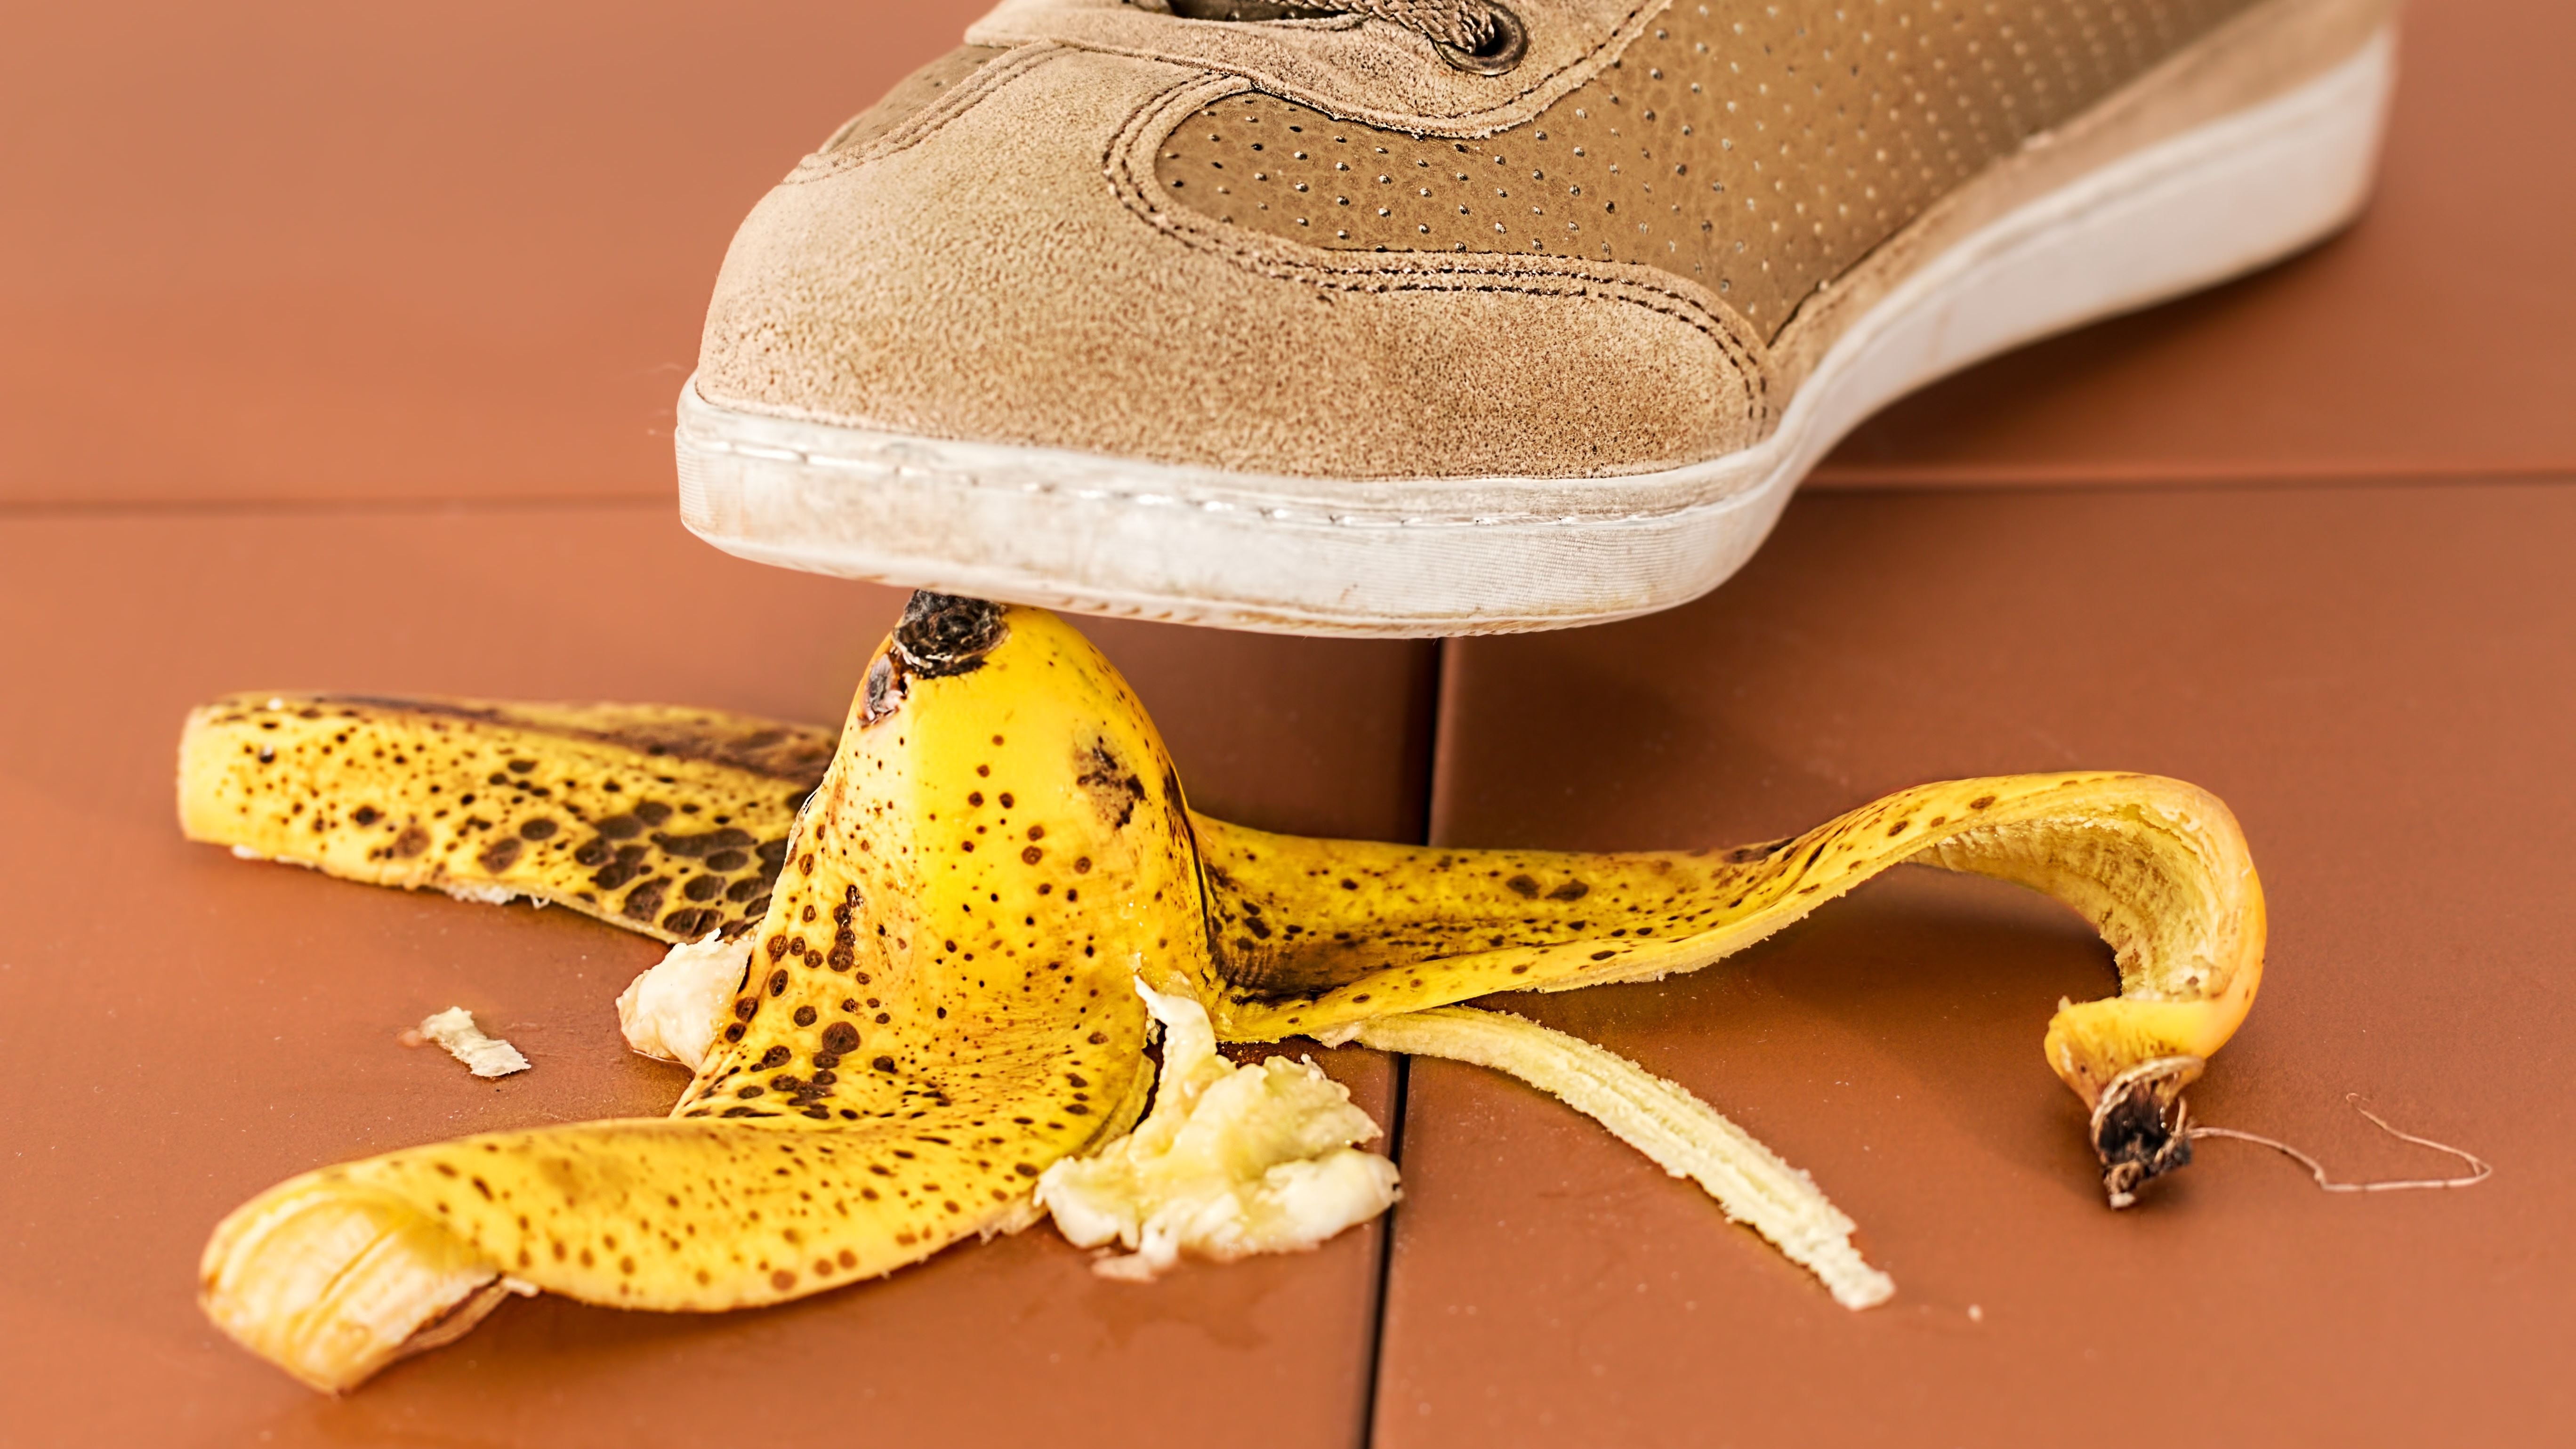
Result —
<instances>
[{"instance_id":1,"label":"whole spotted yellow banana peel splayed out under the shoe","mask_svg":"<svg viewBox=\"0 0 2576 1449\"><path fill-rule=\"evenodd\" d=\"M1074 629L933 593L873 655L837 748L652 706L234 696L188 719L180 820L247 856L714 933L742 959L672 1116L325 1168L216 1227L206 1312L319 1390L505 1292L752 1307L1023 1227L1038 1178L1151 1096L1139 987L1226 1042L1358 1036L1512 1070L1857 1307L1883 1279L1803 1173L1672 1083L1458 1003L1698 969L1896 864L2012 879L2115 951L2120 993L2061 1003L2043 1052L2125 1207L2190 1160L2179 1093L2251 1006L2264 944L2236 820L2138 773L1929 784L1734 851L1226 825L1188 807L1141 701Z\"/></svg>"}]
</instances>

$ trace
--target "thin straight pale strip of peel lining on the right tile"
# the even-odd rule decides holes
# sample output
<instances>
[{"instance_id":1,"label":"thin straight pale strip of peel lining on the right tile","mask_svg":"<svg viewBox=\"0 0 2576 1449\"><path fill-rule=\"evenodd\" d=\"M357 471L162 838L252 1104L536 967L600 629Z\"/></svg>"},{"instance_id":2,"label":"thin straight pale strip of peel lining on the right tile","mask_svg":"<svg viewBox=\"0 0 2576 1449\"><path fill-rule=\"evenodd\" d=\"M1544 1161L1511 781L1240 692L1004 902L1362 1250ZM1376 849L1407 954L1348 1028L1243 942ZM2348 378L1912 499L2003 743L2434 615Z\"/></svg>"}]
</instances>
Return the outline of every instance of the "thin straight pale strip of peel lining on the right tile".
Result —
<instances>
[{"instance_id":1,"label":"thin straight pale strip of peel lining on the right tile","mask_svg":"<svg viewBox=\"0 0 2576 1449\"><path fill-rule=\"evenodd\" d=\"M1502 1011L1443 1006L1363 1021L1352 1039L1381 1052L1473 1062L1515 1075L1607 1127L1677 1178L1692 1178L1728 1220L1772 1240L1806 1266L1842 1307L1875 1307L1896 1281L1852 1248L1855 1225L1816 1178L1728 1122L1677 1083L1535 1021Z\"/></svg>"}]
</instances>

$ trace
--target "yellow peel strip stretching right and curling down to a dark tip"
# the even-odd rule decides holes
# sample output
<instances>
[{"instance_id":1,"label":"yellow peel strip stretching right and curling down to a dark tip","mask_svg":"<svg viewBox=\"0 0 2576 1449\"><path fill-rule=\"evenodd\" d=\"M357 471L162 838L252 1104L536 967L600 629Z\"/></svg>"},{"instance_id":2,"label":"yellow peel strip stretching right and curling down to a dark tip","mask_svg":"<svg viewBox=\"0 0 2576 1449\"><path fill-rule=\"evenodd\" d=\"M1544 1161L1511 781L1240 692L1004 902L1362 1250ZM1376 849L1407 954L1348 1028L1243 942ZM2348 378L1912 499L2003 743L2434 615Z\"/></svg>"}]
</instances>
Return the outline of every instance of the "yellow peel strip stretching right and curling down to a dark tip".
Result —
<instances>
[{"instance_id":1,"label":"yellow peel strip stretching right and curling down to a dark tip","mask_svg":"<svg viewBox=\"0 0 2576 1449\"><path fill-rule=\"evenodd\" d=\"M2084 915L2120 969L2117 995L2058 1003L2040 1044L2092 1109L2112 1207L2190 1160L2179 1093L2254 1006L2267 936L2228 807L2125 771L1922 784L1734 851L1458 851L1211 820L1200 846L1229 946L1213 1013L1249 1042L1695 972L1901 864L2032 887Z\"/></svg>"}]
</instances>

